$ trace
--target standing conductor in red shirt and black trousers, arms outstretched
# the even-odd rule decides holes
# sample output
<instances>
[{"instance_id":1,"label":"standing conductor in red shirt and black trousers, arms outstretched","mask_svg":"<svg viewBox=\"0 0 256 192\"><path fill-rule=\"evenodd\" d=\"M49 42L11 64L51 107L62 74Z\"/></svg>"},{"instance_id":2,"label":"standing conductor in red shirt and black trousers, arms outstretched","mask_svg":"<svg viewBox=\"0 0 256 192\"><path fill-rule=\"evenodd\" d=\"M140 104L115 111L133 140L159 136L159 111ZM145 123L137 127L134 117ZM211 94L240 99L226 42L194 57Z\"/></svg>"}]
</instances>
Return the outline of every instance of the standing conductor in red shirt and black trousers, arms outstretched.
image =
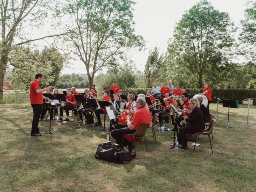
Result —
<instances>
[{"instance_id":1,"label":"standing conductor in red shirt and black trousers, arms outstretched","mask_svg":"<svg viewBox=\"0 0 256 192\"><path fill-rule=\"evenodd\" d=\"M36 78L30 85L30 104L33 108L33 120L32 120L32 128L30 136L42 136L38 128L38 122L40 118L40 114L42 112L43 107L43 99L51 102L49 98L43 96L42 92L47 89L53 88L53 86L48 86L47 88L41 89L40 83L44 80L44 76L41 73L36 74Z\"/></svg>"}]
</instances>

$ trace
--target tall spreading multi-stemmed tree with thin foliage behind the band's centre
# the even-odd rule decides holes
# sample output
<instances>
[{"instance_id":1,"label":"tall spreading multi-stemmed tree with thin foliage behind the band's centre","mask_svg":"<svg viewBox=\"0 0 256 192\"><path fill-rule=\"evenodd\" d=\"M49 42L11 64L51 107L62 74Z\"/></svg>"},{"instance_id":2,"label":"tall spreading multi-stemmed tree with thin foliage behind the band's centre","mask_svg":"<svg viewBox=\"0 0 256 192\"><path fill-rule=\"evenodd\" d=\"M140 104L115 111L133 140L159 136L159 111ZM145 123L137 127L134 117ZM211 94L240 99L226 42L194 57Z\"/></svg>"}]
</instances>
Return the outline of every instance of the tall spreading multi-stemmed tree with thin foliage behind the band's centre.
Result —
<instances>
[{"instance_id":1,"label":"tall spreading multi-stemmed tree with thin foliage behind the band's centre","mask_svg":"<svg viewBox=\"0 0 256 192\"><path fill-rule=\"evenodd\" d=\"M126 48L144 46L133 28L134 4L132 0L68 0L64 14L69 14L77 29L65 40L71 42L68 47L73 46L72 52L84 63L90 86L96 72L118 65Z\"/></svg>"}]
</instances>

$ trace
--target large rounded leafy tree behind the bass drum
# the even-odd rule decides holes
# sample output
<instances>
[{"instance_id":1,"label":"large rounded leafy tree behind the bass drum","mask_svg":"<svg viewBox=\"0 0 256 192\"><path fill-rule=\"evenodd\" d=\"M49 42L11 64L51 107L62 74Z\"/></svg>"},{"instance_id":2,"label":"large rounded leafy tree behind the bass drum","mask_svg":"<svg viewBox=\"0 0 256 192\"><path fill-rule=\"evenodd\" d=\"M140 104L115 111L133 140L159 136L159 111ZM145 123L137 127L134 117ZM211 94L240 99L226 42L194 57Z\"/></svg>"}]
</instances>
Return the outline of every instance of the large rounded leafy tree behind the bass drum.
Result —
<instances>
[{"instance_id":1,"label":"large rounded leafy tree behind the bass drum","mask_svg":"<svg viewBox=\"0 0 256 192\"><path fill-rule=\"evenodd\" d=\"M228 64L236 28L227 13L201 0L190 8L174 29L168 49L168 64L183 77L202 88L203 79L221 80L218 74ZM179 71L177 70L179 69Z\"/></svg>"}]
</instances>

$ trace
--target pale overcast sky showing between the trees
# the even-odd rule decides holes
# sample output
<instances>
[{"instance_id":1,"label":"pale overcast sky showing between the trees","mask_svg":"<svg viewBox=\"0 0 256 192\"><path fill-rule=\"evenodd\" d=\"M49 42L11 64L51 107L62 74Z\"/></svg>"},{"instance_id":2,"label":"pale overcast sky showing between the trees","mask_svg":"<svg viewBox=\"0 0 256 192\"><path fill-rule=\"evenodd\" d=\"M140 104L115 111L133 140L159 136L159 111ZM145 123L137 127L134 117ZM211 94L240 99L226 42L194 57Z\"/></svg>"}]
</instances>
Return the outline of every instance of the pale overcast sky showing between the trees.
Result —
<instances>
[{"instance_id":1,"label":"pale overcast sky showing between the trees","mask_svg":"<svg viewBox=\"0 0 256 192\"><path fill-rule=\"evenodd\" d=\"M182 18L186 10L189 10L199 0L137 0L134 7L134 26L136 34L140 34L146 40L146 50L142 52L129 52L137 69L144 70L148 52L158 46L161 52L166 52L168 40L172 38L176 22ZM246 0L208 0L215 9L227 12L230 18L238 26L244 18ZM64 73L86 73L84 64L79 60L72 64L72 69L64 67Z\"/></svg>"}]
</instances>

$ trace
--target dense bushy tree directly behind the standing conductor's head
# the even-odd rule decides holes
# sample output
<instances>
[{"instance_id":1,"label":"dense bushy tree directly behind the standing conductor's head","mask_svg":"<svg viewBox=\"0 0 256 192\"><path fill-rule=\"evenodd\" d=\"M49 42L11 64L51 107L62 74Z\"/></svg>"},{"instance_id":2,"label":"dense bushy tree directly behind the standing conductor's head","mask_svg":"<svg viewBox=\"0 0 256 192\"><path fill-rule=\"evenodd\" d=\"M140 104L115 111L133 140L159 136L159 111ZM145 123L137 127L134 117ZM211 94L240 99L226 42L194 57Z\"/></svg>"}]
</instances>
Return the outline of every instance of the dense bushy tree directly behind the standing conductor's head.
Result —
<instances>
[{"instance_id":1,"label":"dense bushy tree directly behind the standing conductor's head","mask_svg":"<svg viewBox=\"0 0 256 192\"><path fill-rule=\"evenodd\" d=\"M11 84L20 90L29 88L35 75L40 72L45 76L43 85L54 85L62 70L65 57L53 48L31 50L29 47L16 47L11 52L10 62L15 66L12 70Z\"/></svg>"}]
</instances>

